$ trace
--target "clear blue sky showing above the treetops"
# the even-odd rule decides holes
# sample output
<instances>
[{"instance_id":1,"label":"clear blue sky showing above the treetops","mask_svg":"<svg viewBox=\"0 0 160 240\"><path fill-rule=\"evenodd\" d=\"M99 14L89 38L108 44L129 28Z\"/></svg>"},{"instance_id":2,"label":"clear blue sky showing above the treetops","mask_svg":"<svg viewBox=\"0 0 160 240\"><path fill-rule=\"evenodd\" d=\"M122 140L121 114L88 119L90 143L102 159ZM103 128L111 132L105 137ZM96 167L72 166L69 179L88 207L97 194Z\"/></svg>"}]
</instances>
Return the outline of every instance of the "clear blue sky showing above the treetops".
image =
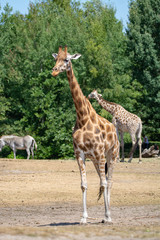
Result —
<instances>
[{"instance_id":1,"label":"clear blue sky showing above the treetops","mask_svg":"<svg viewBox=\"0 0 160 240\"><path fill-rule=\"evenodd\" d=\"M127 27L128 21L128 1L129 0L103 0L107 5L114 7L116 10L116 18L122 21L124 29ZM9 3L9 5L13 7L13 12L19 11L22 14L27 14L30 2L34 2L34 0L0 0L0 6L2 10L6 3ZM84 3L85 0L80 0L80 2Z\"/></svg>"}]
</instances>

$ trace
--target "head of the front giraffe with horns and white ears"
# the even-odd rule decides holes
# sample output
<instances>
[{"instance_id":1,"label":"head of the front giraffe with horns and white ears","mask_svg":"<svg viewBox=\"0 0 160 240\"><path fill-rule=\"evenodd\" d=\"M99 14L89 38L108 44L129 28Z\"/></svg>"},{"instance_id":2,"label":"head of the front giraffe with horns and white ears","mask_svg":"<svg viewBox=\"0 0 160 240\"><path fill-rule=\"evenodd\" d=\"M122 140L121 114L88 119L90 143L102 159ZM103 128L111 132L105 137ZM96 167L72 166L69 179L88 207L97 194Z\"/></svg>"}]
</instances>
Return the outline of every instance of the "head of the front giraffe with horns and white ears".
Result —
<instances>
[{"instance_id":1,"label":"head of the front giraffe with horns and white ears","mask_svg":"<svg viewBox=\"0 0 160 240\"><path fill-rule=\"evenodd\" d=\"M78 59L81 55L78 53L71 55L67 52L67 46L65 46L64 51L60 46L58 54L53 53L52 56L56 60L56 65L52 69L52 75L55 77L60 72L69 71L71 66L71 59Z\"/></svg>"}]
</instances>

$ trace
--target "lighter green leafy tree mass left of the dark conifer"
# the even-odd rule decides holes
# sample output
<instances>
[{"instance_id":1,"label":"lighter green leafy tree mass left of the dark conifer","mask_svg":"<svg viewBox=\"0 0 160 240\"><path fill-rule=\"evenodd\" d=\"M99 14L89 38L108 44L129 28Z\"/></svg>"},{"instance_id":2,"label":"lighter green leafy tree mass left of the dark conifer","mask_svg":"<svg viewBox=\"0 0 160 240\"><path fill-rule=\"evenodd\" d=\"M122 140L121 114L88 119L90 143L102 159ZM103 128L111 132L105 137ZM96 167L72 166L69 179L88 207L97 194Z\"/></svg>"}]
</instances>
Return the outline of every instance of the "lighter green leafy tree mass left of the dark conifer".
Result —
<instances>
[{"instance_id":1,"label":"lighter green leafy tree mass left of the dark conifer","mask_svg":"<svg viewBox=\"0 0 160 240\"><path fill-rule=\"evenodd\" d=\"M0 21L1 134L32 135L37 158L73 157L76 113L67 76L51 76L59 45L82 54L73 68L84 95L97 88L107 100L136 112L140 84L131 83L126 36L112 8L99 0L83 8L77 1L43 0L31 2L25 16L6 5Z\"/></svg>"}]
</instances>

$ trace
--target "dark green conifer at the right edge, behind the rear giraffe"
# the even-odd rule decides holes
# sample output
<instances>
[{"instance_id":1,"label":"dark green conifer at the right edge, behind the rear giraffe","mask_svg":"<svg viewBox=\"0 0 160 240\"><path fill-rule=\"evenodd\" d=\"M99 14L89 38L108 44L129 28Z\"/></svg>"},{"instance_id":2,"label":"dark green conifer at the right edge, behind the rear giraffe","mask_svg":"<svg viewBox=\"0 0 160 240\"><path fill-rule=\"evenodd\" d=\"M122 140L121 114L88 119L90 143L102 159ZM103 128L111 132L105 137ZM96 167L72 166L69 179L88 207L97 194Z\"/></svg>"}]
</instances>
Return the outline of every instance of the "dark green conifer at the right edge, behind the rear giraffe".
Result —
<instances>
[{"instance_id":1,"label":"dark green conifer at the right edge, behind the rear giraffe","mask_svg":"<svg viewBox=\"0 0 160 240\"><path fill-rule=\"evenodd\" d=\"M141 85L137 109L152 140L160 137L160 0L130 1L127 45L132 81Z\"/></svg>"}]
</instances>

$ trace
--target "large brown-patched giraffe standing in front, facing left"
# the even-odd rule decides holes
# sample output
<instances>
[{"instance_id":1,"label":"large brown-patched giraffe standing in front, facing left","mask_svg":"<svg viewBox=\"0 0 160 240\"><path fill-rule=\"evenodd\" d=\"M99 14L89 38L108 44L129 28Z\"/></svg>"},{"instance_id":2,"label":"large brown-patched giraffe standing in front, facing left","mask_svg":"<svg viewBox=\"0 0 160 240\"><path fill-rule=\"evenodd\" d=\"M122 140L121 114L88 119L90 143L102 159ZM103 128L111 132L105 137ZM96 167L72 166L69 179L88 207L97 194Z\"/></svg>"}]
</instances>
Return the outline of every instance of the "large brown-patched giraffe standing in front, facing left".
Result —
<instances>
[{"instance_id":1,"label":"large brown-patched giraffe standing in front, facing left","mask_svg":"<svg viewBox=\"0 0 160 240\"><path fill-rule=\"evenodd\" d=\"M58 54L53 53L56 60L52 75L66 71L67 78L76 109L76 124L72 133L75 157L81 176L81 190L83 199L83 216L80 223L87 223L87 178L85 159L92 160L100 178L99 196L104 196L105 218L103 222L111 222L110 189L112 185L113 166L119 155L119 141L116 129L112 123L99 116L90 101L83 95L72 69L71 59L78 59L81 55L70 55L67 46L63 51L59 47ZM105 169L108 170L106 173Z\"/></svg>"}]
</instances>

